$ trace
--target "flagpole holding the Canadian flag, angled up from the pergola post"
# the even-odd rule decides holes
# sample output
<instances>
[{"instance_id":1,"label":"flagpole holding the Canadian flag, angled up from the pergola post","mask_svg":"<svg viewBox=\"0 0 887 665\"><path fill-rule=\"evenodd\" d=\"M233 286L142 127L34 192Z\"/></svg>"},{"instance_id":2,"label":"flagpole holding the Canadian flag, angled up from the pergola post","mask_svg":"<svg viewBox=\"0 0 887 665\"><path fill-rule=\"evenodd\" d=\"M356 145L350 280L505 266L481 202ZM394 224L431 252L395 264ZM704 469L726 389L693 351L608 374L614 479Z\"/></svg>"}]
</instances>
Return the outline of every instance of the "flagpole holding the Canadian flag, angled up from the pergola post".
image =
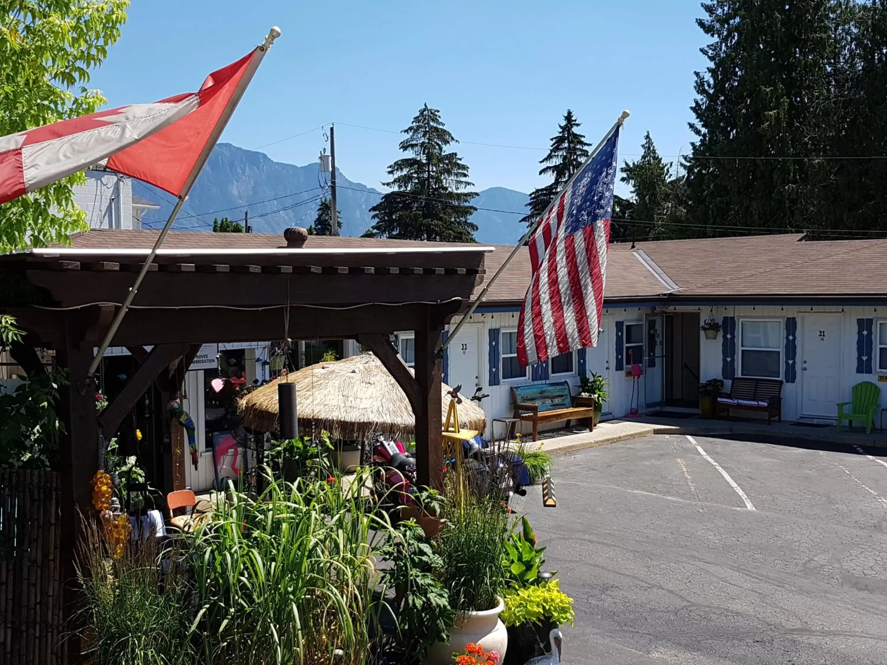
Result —
<instances>
[{"instance_id":1,"label":"flagpole holding the Canadian flag, angled up from the pergola post","mask_svg":"<svg viewBox=\"0 0 887 665\"><path fill-rule=\"evenodd\" d=\"M138 287L141 286L142 280L145 279L145 275L147 275L148 270L151 269L151 263L153 262L154 257L157 255L157 250L161 248L163 240L166 239L167 233L169 233L169 229L172 228L172 223L176 221L178 211L182 209L184 201L188 198L188 193L191 192L194 181L197 180L197 176L200 175L200 169L202 169L203 165L207 163L207 160L209 159L209 154L212 153L213 148L216 147L216 142L219 140L219 137L222 136L225 125L228 124L228 121L231 119L232 113L234 113L234 109L237 107L240 98L243 97L244 91L247 90L247 85L249 85L249 82L252 81L255 70L258 69L258 66L262 63L262 60L265 57L265 53L268 52L268 50L271 48L271 45L274 43L274 40L277 39L279 36L280 28L277 26L271 27L271 29L268 31L268 35L265 36L264 42L256 47L258 53L255 54L255 58L250 60L249 65L247 65L247 70L243 73L243 76L237 83L237 87L234 89L231 100L229 101L227 106L225 106L224 111L219 118L219 121L216 122L216 127L213 128L212 132L210 132L209 139L206 145L203 146L203 150L200 151L200 155L198 156L197 161L194 162L194 167L191 169L191 174L184 181L184 186L182 187L182 192L180 192L178 195L176 206L173 207L172 212L169 214L169 219L167 219L167 223L163 225L163 230L161 231L161 234L157 237L157 241L154 242L151 253L148 254L148 257L145 259L145 263L142 264L142 270L139 271L135 283L133 283L133 285L130 287L130 293L126 294L126 298L122 302L121 308L118 309L117 313L114 315L114 321L111 322L111 327L108 328L108 332L106 332L105 334L105 339L102 340L101 345L98 347L98 353L92 359L92 362L90 363L90 369L86 372L87 380L91 379L92 376L95 374L96 369L98 368L98 364L102 360L102 356L105 356L107 348L111 345L111 340L114 339L114 335L117 333L117 329L120 328L123 317L126 316L127 309L130 309L130 305L135 299L136 293L138 293Z\"/></svg>"}]
</instances>

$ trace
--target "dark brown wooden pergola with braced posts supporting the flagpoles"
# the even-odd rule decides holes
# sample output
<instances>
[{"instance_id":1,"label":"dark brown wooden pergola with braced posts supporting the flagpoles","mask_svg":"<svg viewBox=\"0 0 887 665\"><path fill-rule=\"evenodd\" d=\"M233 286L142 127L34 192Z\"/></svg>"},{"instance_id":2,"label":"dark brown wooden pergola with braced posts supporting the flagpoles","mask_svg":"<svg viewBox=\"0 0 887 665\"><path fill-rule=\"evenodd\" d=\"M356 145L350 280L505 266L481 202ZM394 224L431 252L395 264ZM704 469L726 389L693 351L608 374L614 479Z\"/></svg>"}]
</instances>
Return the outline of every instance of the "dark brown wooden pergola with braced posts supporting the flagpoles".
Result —
<instances>
[{"instance_id":1,"label":"dark brown wooden pergola with braced posts supporting the flagpoles","mask_svg":"<svg viewBox=\"0 0 887 665\"><path fill-rule=\"evenodd\" d=\"M90 236L106 238L93 231L74 246L0 256L0 308L27 332L13 356L26 371L36 371L34 349L52 348L69 372L60 413L66 428L59 469L63 550L71 546L73 552L75 509L91 510L99 434L111 437L155 382L175 395L182 372L208 342L358 340L410 400L419 482L441 484L437 351L443 325L483 279L490 247L315 237L287 247L273 236L170 234L175 238L157 255L111 342L130 349L137 371L97 414L90 361L156 239L152 232L129 233L127 246L90 246ZM229 236L229 247L206 246L206 237L220 235ZM415 331L414 377L389 342L392 332L405 330ZM173 453L165 456L168 464L184 464L181 452ZM184 477L176 468L165 471Z\"/></svg>"}]
</instances>

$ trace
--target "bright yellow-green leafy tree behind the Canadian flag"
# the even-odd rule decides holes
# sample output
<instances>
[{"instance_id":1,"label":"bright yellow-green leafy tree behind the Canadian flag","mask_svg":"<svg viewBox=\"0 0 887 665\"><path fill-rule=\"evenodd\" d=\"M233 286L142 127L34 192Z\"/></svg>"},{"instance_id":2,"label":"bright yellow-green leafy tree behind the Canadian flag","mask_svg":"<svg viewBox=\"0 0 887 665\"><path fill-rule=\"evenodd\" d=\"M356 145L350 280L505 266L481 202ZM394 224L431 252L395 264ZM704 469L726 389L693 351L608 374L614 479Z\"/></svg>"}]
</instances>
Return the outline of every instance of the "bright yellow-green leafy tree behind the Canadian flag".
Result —
<instances>
[{"instance_id":1,"label":"bright yellow-green leafy tree behind the Canadian flag","mask_svg":"<svg viewBox=\"0 0 887 665\"><path fill-rule=\"evenodd\" d=\"M0 10L0 136L94 113L90 71L120 37L129 0L12 0ZM0 252L64 242L85 231L69 176L0 206Z\"/></svg>"}]
</instances>

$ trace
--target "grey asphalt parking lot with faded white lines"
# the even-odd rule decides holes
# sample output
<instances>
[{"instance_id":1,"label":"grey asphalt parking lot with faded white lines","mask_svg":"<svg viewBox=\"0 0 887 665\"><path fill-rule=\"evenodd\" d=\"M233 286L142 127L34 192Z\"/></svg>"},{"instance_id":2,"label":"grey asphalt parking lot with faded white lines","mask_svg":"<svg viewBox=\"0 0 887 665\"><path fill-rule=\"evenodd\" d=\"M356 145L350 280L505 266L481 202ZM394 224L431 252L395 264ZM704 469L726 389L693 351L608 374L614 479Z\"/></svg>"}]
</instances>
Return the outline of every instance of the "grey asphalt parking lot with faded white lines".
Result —
<instances>
[{"instance_id":1,"label":"grey asphalt parking lot with faded white lines","mask_svg":"<svg viewBox=\"0 0 887 665\"><path fill-rule=\"evenodd\" d=\"M887 457L662 435L554 458L521 501L576 600L568 663L887 662Z\"/></svg>"}]
</instances>

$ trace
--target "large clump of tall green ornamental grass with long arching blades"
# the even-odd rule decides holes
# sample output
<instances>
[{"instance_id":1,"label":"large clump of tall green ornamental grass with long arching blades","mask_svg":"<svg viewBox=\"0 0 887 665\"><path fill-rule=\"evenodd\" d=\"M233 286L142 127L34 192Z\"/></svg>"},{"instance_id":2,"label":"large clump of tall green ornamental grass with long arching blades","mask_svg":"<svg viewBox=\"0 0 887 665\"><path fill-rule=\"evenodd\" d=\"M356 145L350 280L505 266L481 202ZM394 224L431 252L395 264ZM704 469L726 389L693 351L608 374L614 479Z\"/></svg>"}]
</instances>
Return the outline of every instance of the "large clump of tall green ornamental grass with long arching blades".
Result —
<instances>
[{"instance_id":1,"label":"large clump of tall green ornamental grass with long arching blades","mask_svg":"<svg viewBox=\"0 0 887 665\"><path fill-rule=\"evenodd\" d=\"M391 532L362 474L229 489L192 543L194 632L206 663L365 663L381 576L372 552ZM335 660L334 660L335 657Z\"/></svg>"}]
</instances>

